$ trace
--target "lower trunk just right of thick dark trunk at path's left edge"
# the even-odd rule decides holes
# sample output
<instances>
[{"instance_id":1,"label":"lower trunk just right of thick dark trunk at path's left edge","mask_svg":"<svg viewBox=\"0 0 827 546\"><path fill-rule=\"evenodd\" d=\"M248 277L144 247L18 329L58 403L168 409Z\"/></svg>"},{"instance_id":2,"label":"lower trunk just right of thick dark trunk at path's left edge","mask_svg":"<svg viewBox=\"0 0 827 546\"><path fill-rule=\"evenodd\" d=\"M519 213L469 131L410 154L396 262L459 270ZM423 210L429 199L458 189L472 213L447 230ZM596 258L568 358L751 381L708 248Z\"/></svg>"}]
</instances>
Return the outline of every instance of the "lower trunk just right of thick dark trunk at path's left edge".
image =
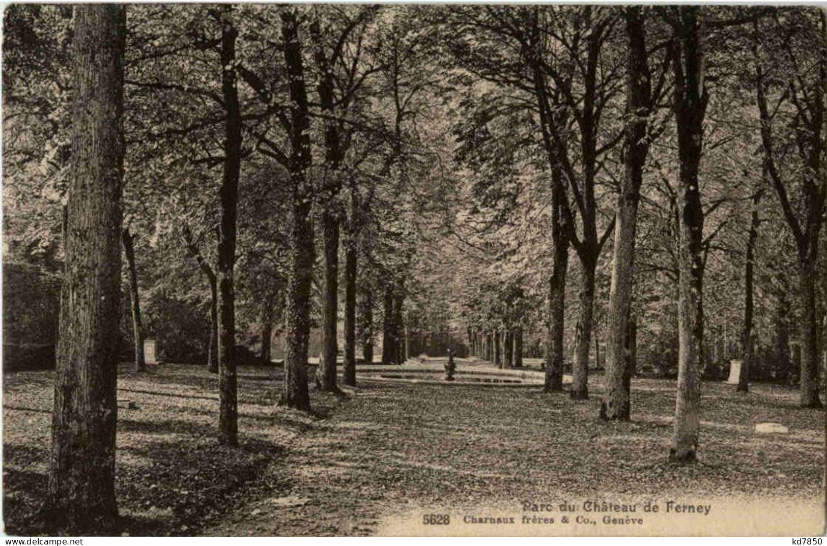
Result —
<instances>
[{"instance_id":1,"label":"lower trunk just right of thick dark trunk at path's left edge","mask_svg":"<svg viewBox=\"0 0 827 546\"><path fill-rule=\"evenodd\" d=\"M339 301L339 221L330 211L322 215L324 231L324 304L322 313L322 360L318 364L320 390L335 392Z\"/></svg>"}]
</instances>

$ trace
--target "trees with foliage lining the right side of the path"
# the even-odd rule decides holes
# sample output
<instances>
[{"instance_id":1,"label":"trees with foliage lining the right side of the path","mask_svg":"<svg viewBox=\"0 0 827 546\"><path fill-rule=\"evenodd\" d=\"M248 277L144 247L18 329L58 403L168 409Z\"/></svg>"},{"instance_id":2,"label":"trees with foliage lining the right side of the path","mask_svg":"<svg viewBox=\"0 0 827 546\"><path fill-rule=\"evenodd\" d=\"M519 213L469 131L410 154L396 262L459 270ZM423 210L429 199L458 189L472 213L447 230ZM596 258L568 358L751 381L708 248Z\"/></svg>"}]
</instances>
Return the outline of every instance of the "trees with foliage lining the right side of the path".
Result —
<instances>
[{"instance_id":1,"label":"trees with foliage lining the right side of the path","mask_svg":"<svg viewBox=\"0 0 827 546\"><path fill-rule=\"evenodd\" d=\"M600 415L629 419L629 353L641 315L656 322L643 324L648 339L674 321L671 457L691 461L715 330L724 328L724 343L728 325L740 330L730 338L743 347L739 390L747 389L758 285L762 307L775 308L784 359L797 299L801 406L820 407L825 14L458 7L444 17L454 32L447 62L461 92L454 130L466 180L452 231L472 262L455 280L464 295L457 308L472 338L493 335L486 357L500 362L500 332L545 325L546 389L562 389L568 348L571 397L585 399L600 310L607 352ZM774 231L759 238L762 223ZM566 335L570 250L579 310ZM788 267L797 268L797 285ZM710 281L728 293L710 294ZM705 294L720 314L706 318Z\"/></svg>"}]
</instances>

